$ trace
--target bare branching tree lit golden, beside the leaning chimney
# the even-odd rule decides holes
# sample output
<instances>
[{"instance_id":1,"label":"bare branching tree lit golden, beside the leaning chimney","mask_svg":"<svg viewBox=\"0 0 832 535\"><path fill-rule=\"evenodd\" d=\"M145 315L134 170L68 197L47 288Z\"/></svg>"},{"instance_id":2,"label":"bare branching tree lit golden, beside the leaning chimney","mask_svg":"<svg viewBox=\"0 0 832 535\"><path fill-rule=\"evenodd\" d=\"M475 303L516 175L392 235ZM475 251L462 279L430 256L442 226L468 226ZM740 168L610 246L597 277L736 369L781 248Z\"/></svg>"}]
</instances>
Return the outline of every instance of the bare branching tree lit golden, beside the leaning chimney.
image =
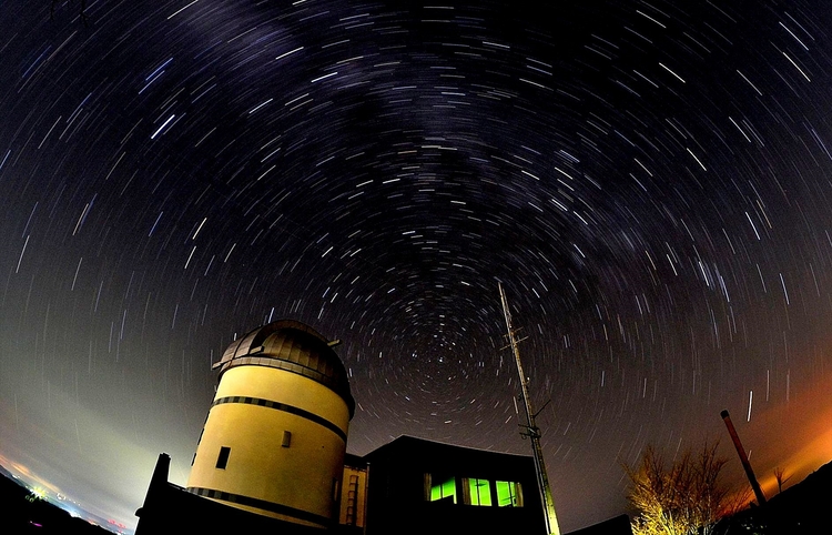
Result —
<instances>
[{"instance_id":1,"label":"bare branching tree lit golden, beside the leaning chimney","mask_svg":"<svg viewBox=\"0 0 832 535\"><path fill-rule=\"evenodd\" d=\"M636 466L625 466L635 535L708 535L730 513L730 489L720 480L728 460L717 455L718 445L704 443L672 463L648 446Z\"/></svg>"}]
</instances>

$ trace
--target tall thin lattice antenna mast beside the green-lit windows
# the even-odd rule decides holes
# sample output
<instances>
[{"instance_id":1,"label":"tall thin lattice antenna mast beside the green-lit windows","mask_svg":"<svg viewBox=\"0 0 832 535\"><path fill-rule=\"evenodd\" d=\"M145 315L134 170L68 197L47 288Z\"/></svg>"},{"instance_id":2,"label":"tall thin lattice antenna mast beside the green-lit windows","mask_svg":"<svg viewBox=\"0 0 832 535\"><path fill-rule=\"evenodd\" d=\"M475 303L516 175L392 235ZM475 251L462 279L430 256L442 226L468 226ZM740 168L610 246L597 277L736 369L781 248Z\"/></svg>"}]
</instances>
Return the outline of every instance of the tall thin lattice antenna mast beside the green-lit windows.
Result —
<instances>
[{"instance_id":1,"label":"tall thin lattice antenna mast beside the green-lit windows","mask_svg":"<svg viewBox=\"0 0 832 535\"><path fill-rule=\"evenodd\" d=\"M520 350L517 344L520 342L515 337L515 331L511 329L511 313L508 310L508 302L506 301L506 292L503 291L503 284L499 282L497 286L500 291L500 301L503 302L503 314L506 316L506 329L508 330L508 341L511 346L511 352L515 355L515 362L517 363L517 373L520 375L520 388L522 390L522 404L526 408L526 428L525 432L520 433L522 436L528 436L531 441L531 451L535 457L535 472L537 473L537 486L540 488L540 501L544 504L544 518L546 521L546 533L550 535L560 535L560 527L558 526L558 517L555 514L555 502L551 498L551 487L549 486L549 476L546 474L546 463L544 462L544 450L540 446L540 427L535 424L535 408L531 404L531 397L529 397L529 381L526 374L522 372L522 363L520 362Z\"/></svg>"}]
</instances>

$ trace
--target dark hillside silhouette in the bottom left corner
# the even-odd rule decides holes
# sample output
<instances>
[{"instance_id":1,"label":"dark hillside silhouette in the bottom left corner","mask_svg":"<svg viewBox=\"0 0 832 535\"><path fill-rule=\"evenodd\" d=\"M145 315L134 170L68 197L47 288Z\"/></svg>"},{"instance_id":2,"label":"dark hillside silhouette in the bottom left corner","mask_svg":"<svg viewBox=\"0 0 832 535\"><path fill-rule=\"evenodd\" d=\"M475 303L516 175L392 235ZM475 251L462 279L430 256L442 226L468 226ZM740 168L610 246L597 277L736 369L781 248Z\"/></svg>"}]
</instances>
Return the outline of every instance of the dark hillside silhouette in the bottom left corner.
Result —
<instances>
[{"instance_id":1,"label":"dark hillside silhouette in the bottom left corner","mask_svg":"<svg viewBox=\"0 0 832 535\"><path fill-rule=\"evenodd\" d=\"M38 497L3 466L0 466L0 508L3 511L0 533L112 535Z\"/></svg>"}]
</instances>

